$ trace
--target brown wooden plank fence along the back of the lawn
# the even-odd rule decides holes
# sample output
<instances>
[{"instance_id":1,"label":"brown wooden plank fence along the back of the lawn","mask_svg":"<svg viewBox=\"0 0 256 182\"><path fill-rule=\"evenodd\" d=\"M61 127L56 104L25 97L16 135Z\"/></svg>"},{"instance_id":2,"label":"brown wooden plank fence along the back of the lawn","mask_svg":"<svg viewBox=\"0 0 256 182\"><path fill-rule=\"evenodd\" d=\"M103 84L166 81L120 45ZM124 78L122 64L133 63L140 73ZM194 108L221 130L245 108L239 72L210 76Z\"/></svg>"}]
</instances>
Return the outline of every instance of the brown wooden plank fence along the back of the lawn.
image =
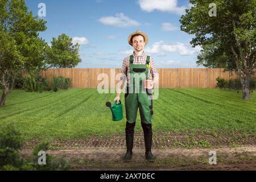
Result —
<instances>
[{"instance_id":1,"label":"brown wooden plank fence along the back of the lawn","mask_svg":"<svg viewBox=\"0 0 256 182\"><path fill-rule=\"evenodd\" d=\"M222 68L158 68L159 88L215 88L218 76L229 79L236 78L228 72L223 72ZM111 68L60 68L47 69L42 75L48 78L53 76L63 76L72 78L71 88L97 88L103 80L97 80L98 75L105 73L108 75L109 88L110 78L113 80L121 69ZM256 76L254 76L256 77ZM50 79L51 80L51 79ZM117 84L118 81L115 81Z\"/></svg>"}]
</instances>

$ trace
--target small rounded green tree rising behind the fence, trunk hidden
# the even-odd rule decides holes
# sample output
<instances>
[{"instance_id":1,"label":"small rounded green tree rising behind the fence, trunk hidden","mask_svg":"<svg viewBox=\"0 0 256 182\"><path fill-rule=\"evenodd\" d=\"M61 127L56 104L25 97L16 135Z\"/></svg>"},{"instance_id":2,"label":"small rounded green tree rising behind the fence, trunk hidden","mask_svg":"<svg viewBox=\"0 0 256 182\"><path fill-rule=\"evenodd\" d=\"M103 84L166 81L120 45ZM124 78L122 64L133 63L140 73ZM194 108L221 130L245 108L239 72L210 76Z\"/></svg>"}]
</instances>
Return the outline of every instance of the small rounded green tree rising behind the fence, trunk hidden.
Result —
<instances>
[{"instance_id":1,"label":"small rounded green tree rising behind the fence, trunk hidden","mask_svg":"<svg viewBox=\"0 0 256 182\"><path fill-rule=\"evenodd\" d=\"M52 38L51 46L47 48L47 64L49 68L73 68L81 62L79 44L73 45L72 38L65 34L58 39Z\"/></svg>"}]
</instances>

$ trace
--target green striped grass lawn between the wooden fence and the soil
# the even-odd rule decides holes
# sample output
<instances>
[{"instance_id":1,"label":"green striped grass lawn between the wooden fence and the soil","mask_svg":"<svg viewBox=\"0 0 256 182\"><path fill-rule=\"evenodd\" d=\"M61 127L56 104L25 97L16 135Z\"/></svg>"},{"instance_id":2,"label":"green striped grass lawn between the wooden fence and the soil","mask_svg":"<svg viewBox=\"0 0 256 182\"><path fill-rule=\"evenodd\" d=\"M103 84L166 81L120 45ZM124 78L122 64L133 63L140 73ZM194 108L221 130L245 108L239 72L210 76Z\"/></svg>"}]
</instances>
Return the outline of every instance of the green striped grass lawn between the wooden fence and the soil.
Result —
<instances>
[{"instance_id":1,"label":"green striped grass lawn between the wooden fence and the soil","mask_svg":"<svg viewBox=\"0 0 256 182\"><path fill-rule=\"evenodd\" d=\"M1 91L1 90L0 90ZM2 92L1 92L2 93ZM59 92L28 93L13 90L0 108L0 126L15 124L25 139L75 139L124 133L123 121L114 122L106 101L115 94L97 89L68 89ZM241 93L220 89L160 89L153 101L154 131L256 132L256 94L243 101ZM142 130L139 112L135 130Z\"/></svg>"}]
</instances>

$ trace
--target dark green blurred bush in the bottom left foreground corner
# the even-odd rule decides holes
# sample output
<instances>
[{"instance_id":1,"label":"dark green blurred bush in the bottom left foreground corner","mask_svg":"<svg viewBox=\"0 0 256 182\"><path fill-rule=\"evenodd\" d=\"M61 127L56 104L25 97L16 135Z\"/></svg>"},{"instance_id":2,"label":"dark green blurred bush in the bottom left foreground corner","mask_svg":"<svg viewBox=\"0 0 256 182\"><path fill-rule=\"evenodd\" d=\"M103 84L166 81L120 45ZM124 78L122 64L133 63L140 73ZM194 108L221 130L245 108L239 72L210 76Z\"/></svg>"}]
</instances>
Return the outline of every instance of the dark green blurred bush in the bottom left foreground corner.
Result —
<instances>
[{"instance_id":1,"label":"dark green blurred bush in the bottom left foreground corner","mask_svg":"<svg viewBox=\"0 0 256 182\"><path fill-rule=\"evenodd\" d=\"M39 151L47 151L49 142L42 142L35 147L32 161L24 160L20 155L23 139L13 126L2 127L0 130L0 170L69 170L70 164L64 158L46 154L46 164L39 165Z\"/></svg>"}]
</instances>

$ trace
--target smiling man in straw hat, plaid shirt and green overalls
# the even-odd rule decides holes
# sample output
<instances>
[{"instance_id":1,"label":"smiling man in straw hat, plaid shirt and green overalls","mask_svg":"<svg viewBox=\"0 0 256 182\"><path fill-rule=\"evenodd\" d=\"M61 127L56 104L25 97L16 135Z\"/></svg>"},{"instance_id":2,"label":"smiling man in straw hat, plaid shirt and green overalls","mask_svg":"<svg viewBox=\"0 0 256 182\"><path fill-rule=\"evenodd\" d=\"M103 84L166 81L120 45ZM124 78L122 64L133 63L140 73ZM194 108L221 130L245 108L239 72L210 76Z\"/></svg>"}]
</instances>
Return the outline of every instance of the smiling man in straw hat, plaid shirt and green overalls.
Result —
<instances>
[{"instance_id":1,"label":"smiling man in straw hat, plaid shirt and green overalls","mask_svg":"<svg viewBox=\"0 0 256 182\"><path fill-rule=\"evenodd\" d=\"M151 152L151 144L152 144L152 115L153 115L153 105L152 98L150 99L148 96L151 95L150 91L154 88L154 82L158 80L156 76L158 76L158 72L155 68L155 61L150 56L146 56L144 54L144 46L148 43L148 37L141 31L133 32L128 37L128 43L134 47L134 53L131 56L126 57L123 60L122 65L122 77L123 80L122 86L124 86L127 81L127 93L125 94L125 109L126 109L126 128L125 128L125 136L126 136L126 147L127 151L123 159L125 162L129 162L133 156L133 139L134 139L134 127L137 118L137 111L139 108L139 113L141 115L141 125L144 133L144 142L145 142L145 157L148 161L154 162L155 157ZM144 74L144 77L143 77ZM134 78L134 75L140 75L143 78L148 78L148 76L152 77L151 86L146 89L146 92L142 92L144 90L143 86L143 78L139 80ZM127 78L127 80L125 79ZM136 82L137 81L137 82ZM138 84L139 82L139 84ZM134 93L135 90L139 89L139 93ZM137 90L138 91L138 90ZM121 88L118 88L117 96L114 98L114 101L120 100Z\"/></svg>"}]
</instances>

